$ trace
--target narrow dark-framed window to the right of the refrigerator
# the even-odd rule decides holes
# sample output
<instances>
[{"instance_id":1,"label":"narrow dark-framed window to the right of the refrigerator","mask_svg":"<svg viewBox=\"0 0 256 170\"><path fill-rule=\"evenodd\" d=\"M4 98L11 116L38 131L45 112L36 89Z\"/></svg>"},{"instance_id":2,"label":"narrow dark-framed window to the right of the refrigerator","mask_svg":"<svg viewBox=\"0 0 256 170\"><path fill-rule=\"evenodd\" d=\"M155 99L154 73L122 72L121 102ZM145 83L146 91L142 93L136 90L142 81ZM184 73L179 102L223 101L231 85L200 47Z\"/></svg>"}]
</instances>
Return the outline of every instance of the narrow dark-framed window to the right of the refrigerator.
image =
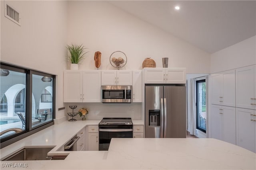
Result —
<instances>
[{"instance_id":1,"label":"narrow dark-framed window to the right of the refrigerator","mask_svg":"<svg viewBox=\"0 0 256 170\"><path fill-rule=\"evenodd\" d=\"M206 133L206 83L196 81L196 129Z\"/></svg>"}]
</instances>

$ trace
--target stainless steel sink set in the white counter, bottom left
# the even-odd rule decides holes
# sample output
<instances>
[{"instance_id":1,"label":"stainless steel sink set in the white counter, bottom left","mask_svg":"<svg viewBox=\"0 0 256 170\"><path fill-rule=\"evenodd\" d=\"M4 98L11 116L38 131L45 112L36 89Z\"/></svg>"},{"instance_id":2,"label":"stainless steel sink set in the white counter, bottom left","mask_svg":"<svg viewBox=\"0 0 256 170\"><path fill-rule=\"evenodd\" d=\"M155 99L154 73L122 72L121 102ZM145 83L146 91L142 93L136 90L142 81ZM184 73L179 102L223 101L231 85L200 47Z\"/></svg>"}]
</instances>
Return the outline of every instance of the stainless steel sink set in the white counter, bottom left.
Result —
<instances>
[{"instance_id":1,"label":"stainless steel sink set in the white counter, bottom left","mask_svg":"<svg viewBox=\"0 0 256 170\"><path fill-rule=\"evenodd\" d=\"M54 147L25 147L4 160L50 160L47 153Z\"/></svg>"}]
</instances>

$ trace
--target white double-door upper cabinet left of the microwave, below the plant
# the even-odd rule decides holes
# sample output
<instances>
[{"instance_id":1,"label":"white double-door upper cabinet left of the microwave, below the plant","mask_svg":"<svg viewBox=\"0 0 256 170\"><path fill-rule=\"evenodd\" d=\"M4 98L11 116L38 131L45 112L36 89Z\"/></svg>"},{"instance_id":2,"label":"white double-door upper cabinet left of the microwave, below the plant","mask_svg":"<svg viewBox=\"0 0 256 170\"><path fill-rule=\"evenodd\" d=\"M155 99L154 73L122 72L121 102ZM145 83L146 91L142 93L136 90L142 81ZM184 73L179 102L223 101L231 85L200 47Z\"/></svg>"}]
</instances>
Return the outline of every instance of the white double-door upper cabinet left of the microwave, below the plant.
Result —
<instances>
[{"instance_id":1,"label":"white double-door upper cabinet left of the microwave, below the plant","mask_svg":"<svg viewBox=\"0 0 256 170\"><path fill-rule=\"evenodd\" d=\"M65 70L64 102L101 102L100 70Z\"/></svg>"}]
</instances>

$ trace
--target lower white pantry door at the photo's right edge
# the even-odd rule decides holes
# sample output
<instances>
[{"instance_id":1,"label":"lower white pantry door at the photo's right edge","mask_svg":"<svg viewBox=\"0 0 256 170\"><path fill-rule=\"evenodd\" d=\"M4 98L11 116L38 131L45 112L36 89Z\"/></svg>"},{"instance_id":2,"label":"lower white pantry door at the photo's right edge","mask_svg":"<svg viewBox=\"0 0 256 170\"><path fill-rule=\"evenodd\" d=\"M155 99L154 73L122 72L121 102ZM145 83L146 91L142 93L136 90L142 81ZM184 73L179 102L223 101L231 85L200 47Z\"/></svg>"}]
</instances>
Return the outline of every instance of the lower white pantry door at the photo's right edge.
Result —
<instances>
[{"instance_id":1,"label":"lower white pantry door at the photo's right edge","mask_svg":"<svg viewBox=\"0 0 256 170\"><path fill-rule=\"evenodd\" d=\"M256 152L256 111L236 108L236 145Z\"/></svg>"}]
</instances>

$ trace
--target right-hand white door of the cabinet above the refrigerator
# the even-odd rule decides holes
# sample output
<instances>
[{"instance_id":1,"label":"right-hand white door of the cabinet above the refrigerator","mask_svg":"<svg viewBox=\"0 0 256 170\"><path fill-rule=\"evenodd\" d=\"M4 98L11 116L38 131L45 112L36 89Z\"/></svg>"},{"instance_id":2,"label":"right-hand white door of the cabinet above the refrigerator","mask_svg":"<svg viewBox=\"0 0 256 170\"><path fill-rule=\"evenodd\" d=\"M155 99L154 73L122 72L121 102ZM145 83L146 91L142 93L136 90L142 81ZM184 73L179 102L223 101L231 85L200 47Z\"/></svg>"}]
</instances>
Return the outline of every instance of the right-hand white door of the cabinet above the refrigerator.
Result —
<instances>
[{"instance_id":1,"label":"right-hand white door of the cabinet above the refrigerator","mask_svg":"<svg viewBox=\"0 0 256 170\"><path fill-rule=\"evenodd\" d=\"M166 68L166 83L186 84L186 68Z\"/></svg>"}]
</instances>

